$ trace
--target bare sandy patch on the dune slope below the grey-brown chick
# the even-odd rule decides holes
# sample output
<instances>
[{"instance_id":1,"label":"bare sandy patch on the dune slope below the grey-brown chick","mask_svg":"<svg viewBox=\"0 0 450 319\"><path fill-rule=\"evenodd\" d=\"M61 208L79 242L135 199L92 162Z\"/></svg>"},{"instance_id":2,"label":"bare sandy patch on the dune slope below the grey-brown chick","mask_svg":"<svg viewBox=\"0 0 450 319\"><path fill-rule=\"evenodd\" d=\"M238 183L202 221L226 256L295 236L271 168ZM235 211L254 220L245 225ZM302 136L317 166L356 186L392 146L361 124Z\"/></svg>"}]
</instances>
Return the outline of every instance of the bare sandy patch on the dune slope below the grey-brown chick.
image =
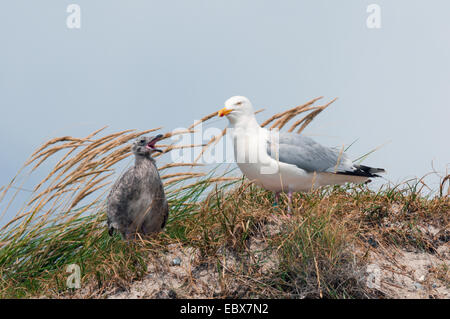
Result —
<instances>
[{"instance_id":1,"label":"bare sandy patch on the dune slope below the grey-brown chick","mask_svg":"<svg viewBox=\"0 0 450 319\"><path fill-rule=\"evenodd\" d=\"M252 262L261 262L261 271L267 271L277 262L274 254L267 255L263 239L252 239L249 250ZM228 249L221 249L222 272L233 272L242 262ZM109 294L107 298L214 298L223 292L239 297L244 291L231 276L219 276L218 267L202 262L198 250L170 245L162 258L154 258L148 275L126 291ZM221 278L219 278L221 277Z\"/></svg>"}]
</instances>

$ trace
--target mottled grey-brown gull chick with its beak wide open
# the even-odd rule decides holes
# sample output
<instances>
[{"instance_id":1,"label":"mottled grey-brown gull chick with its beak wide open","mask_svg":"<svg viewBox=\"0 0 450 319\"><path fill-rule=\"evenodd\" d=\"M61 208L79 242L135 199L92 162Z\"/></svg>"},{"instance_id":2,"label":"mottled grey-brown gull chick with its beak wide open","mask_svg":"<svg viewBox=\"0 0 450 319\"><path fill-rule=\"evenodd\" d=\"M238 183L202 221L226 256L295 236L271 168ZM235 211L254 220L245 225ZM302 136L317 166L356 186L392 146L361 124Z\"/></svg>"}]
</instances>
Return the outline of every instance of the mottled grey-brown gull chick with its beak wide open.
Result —
<instances>
[{"instance_id":1,"label":"mottled grey-brown gull chick with its beak wide open","mask_svg":"<svg viewBox=\"0 0 450 319\"><path fill-rule=\"evenodd\" d=\"M135 164L113 185L107 198L108 232L118 230L125 239L164 228L169 207L153 152L162 135L138 138L132 145Z\"/></svg>"}]
</instances>

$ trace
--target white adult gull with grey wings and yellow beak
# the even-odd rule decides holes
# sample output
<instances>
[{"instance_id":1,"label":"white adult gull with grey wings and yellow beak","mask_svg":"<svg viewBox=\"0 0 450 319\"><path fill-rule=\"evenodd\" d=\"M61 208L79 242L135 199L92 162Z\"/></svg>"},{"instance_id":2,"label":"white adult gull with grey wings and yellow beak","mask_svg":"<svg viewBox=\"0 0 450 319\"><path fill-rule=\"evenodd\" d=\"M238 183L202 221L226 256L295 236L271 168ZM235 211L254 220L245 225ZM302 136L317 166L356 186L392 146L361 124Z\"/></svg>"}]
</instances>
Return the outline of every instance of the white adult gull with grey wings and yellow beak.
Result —
<instances>
[{"instance_id":1,"label":"white adult gull with grey wings and yellow beak","mask_svg":"<svg viewBox=\"0 0 450 319\"><path fill-rule=\"evenodd\" d=\"M226 116L234 156L242 173L256 184L275 192L307 192L324 185L363 183L379 177L384 169L354 164L339 148L329 148L309 137L262 128L250 101L234 96L218 113Z\"/></svg>"}]
</instances>

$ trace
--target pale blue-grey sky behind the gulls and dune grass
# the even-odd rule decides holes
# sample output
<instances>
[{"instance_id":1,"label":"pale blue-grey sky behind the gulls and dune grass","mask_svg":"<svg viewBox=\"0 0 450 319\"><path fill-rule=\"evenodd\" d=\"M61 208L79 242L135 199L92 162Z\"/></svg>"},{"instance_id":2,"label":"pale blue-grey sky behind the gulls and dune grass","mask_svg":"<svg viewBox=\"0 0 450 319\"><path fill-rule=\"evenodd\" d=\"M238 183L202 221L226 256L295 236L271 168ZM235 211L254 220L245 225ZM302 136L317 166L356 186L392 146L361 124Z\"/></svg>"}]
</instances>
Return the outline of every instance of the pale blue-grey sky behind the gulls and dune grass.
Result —
<instances>
[{"instance_id":1,"label":"pale blue-grey sky behind the gulls and dune grass","mask_svg":"<svg viewBox=\"0 0 450 319\"><path fill-rule=\"evenodd\" d=\"M81 6L81 29L66 7ZM368 29L368 4L382 28ZM249 97L265 118L324 95L305 131L393 182L450 162L450 2L8 0L0 3L0 185L44 140L164 126ZM226 120L216 122L220 127ZM433 184L434 183L434 184ZM437 180L433 180L434 187Z\"/></svg>"}]
</instances>

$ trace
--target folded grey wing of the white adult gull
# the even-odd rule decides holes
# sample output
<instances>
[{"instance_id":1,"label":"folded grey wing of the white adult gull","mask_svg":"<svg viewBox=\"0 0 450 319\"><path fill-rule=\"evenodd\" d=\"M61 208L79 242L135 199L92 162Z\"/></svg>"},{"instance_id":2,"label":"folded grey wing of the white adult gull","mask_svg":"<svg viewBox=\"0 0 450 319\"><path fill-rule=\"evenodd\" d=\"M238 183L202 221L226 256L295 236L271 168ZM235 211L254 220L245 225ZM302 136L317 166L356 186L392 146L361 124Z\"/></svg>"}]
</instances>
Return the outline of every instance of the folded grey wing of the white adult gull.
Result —
<instances>
[{"instance_id":1,"label":"folded grey wing of the white adult gull","mask_svg":"<svg viewBox=\"0 0 450 319\"><path fill-rule=\"evenodd\" d=\"M267 153L272 158L293 164L307 172L334 172L336 168L337 171L355 169L341 150L322 146L309 137L280 132L278 144L276 142L269 141L267 146Z\"/></svg>"}]
</instances>

